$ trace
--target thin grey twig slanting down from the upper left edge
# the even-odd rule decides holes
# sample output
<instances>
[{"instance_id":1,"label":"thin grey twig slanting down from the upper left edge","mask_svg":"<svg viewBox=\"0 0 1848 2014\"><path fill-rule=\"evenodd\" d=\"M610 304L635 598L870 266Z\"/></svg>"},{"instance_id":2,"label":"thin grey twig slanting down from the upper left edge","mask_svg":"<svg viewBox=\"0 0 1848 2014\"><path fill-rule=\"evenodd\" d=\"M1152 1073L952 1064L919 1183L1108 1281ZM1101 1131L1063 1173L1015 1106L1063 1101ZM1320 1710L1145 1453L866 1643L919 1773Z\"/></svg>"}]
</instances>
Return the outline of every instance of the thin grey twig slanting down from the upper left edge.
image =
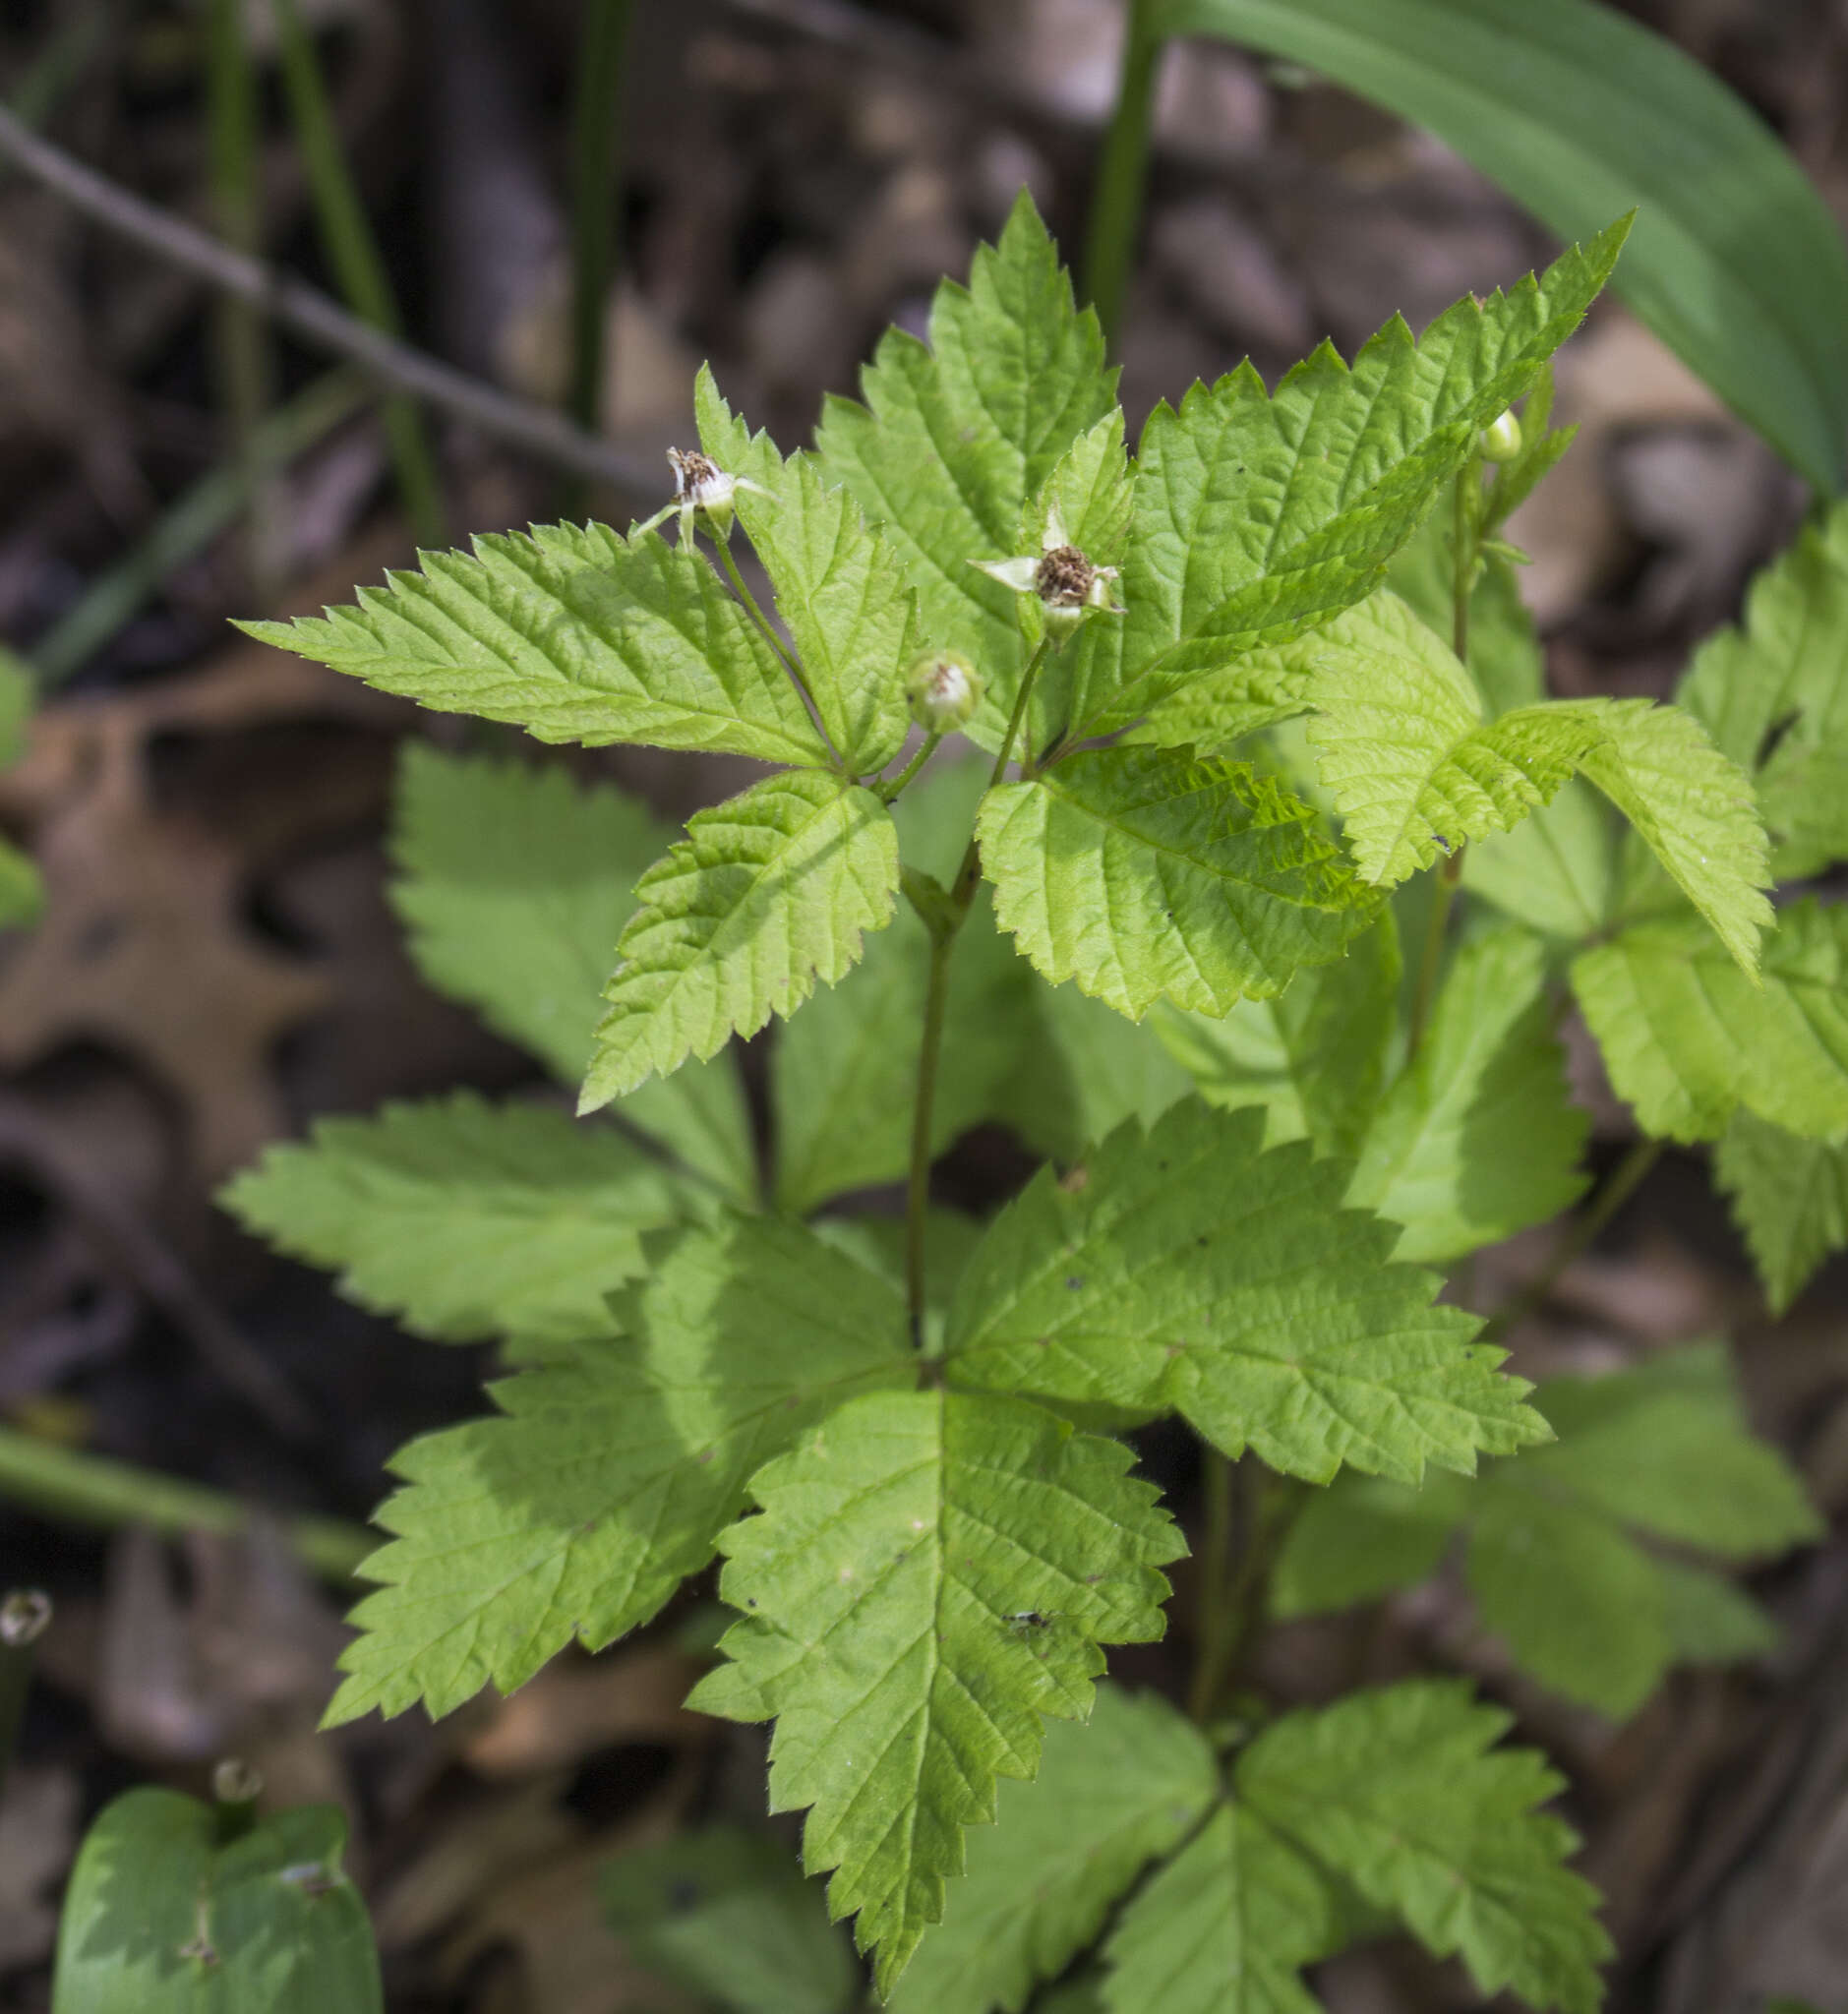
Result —
<instances>
[{"instance_id":1,"label":"thin grey twig slanting down from the upper left edge","mask_svg":"<svg viewBox=\"0 0 1848 2014\"><path fill-rule=\"evenodd\" d=\"M484 385L482 379L437 363L435 356L411 348L407 342L393 342L302 280L276 272L262 260L246 258L210 232L143 201L107 175L73 159L62 147L38 139L4 107L0 107L0 155L105 230L127 238L169 266L179 266L197 280L248 300L282 328L318 348L353 358L379 385L413 393L508 447L520 449L534 461L574 469L611 483L625 495L647 497L665 487L653 469L607 441L582 433L550 407L534 405L530 399L514 399Z\"/></svg>"}]
</instances>

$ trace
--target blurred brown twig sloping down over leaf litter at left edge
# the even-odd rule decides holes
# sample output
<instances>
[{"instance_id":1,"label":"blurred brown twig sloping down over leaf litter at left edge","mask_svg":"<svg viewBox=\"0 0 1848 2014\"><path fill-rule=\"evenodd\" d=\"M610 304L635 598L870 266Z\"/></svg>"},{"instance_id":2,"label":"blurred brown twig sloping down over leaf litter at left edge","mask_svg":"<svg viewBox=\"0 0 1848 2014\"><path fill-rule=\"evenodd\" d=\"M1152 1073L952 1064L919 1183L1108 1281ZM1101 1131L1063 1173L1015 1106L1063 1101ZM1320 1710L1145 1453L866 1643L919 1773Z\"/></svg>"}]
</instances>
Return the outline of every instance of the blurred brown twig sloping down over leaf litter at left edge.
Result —
<instances>
[{"instance_id":1,"label":"blurred brown twig sloping down over leaf litter at left edge","mask_svg":"<svg viewBox=\"0 0 1848 2014\"><path fill-rule=\"evenodd\" d=\"M0 1110L0 1160L32 1168L185 1335L214 1372L278 1434L314 1438L314 1416L294 1386L214 1305L181 1261L105 1184L77 1168L30 1112Z\"/></svg>"}]
</instances>

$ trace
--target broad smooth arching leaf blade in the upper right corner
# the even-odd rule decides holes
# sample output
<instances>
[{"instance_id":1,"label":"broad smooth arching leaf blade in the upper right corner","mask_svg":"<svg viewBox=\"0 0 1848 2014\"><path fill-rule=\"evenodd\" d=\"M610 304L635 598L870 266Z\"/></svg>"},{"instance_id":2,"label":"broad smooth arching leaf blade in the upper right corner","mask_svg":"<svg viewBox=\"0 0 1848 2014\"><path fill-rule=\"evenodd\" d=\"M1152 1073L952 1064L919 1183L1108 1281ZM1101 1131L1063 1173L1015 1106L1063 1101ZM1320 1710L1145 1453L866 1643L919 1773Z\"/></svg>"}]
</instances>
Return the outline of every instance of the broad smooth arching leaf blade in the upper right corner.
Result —
<instances>
[{"instance_id":1,"label":"broad smooth arching leaf blade in the upper right corner","mask_svg":"<svg viewBox=\"0 0 1848 2014\"><path fill-rule=\"evenodd\" d=\"M1636 205L1616 290L1822 489L1848 437L1848 262L1763 119L1592 0L1169 0L1429 127L1562 238Z\"/></svg>"}]
</instances>

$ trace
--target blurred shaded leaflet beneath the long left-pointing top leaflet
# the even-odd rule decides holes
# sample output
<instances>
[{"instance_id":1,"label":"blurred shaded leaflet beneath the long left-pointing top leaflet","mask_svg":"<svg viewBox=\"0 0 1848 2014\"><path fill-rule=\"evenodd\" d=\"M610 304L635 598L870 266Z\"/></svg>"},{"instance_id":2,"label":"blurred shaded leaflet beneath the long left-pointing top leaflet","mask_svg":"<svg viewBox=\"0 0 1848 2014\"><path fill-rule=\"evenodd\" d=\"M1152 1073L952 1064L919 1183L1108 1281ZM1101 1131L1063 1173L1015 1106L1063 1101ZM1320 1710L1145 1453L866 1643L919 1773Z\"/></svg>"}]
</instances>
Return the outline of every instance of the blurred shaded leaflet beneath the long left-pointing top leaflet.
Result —
<instances>
[{"instance_id":1,"label":"blurred shaded leaflet beneath the long left-pointing top leaflet","mask_svg":"<svg viewBox=\"0 0 1848 2014\"><path fill-rule=\"evenodd\" d=\"M617 789L403 745L391 904L411 961L572 1090L617 939L635 914L635 882L665 846L647 808ZM754 1198L750 1114L730 1057L641 1086L623 1118L736 1200Z\"/></svg>"}]
</instances>

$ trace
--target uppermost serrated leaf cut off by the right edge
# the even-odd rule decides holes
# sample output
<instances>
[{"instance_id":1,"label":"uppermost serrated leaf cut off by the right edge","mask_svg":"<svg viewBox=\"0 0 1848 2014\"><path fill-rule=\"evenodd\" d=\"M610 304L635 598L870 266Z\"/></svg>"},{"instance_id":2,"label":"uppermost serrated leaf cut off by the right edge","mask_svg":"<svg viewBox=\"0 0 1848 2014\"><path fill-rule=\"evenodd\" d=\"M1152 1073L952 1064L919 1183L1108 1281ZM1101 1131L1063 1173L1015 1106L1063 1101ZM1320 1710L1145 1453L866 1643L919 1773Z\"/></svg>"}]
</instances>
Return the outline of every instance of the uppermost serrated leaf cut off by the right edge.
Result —
<instances>
[{"instance_id":1,"label":"uppermost serrated leaf cut off by the right edge","mask_svg":"<svg viewBox=\"0 0 1848 2014\"><path fill-rule=\"evenodd\" d=\"M1848 506L1753 580L1677 697L1753 775L1779 880L1848 858Z\"/></svg>"}]
</instances>

